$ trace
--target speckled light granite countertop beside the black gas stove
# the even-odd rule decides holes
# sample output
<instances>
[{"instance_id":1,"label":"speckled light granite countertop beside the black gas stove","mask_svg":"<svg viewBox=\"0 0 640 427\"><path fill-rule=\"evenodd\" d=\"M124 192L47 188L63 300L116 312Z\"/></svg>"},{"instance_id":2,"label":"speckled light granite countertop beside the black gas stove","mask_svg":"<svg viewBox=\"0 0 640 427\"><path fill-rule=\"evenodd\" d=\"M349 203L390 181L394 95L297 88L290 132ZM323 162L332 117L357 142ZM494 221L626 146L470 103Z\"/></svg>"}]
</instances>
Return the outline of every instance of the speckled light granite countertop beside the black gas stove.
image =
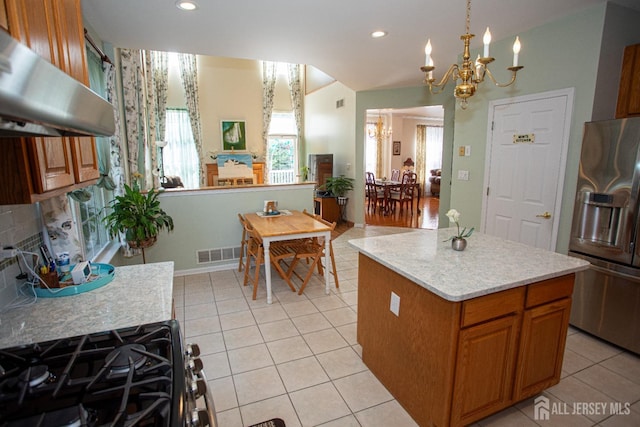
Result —
<instances>
[{"instance_id":1,"label":"speckled light granite countertop beside the black gas stove","mask_svg":"<svg viewBox=\"0 0 640 427\"><path fill-rule=\"evenodd\" d=\"M0 317L0 348L171 319L173 262L117 267L105 286Z\"/></svg>"}]
</instances>

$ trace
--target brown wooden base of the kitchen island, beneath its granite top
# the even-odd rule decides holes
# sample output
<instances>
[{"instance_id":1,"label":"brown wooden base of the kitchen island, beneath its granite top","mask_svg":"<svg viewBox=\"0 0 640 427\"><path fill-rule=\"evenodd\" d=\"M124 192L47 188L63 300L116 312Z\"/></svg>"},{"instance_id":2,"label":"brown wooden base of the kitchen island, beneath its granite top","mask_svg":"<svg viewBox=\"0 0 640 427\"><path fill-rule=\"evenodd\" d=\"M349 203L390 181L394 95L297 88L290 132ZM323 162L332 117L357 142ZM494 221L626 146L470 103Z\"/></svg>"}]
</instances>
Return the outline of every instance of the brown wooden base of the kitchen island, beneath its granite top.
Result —
<instances>
[{"instance_id":1,"label":"brown wooden base of the kitchen island, beneath its granite top","mask_svg":"<svg viewBox=\"0 0 640 427\"><path fill-rule=\"evenodd\" d=\"M472 424L560 381L573 282L455 302L360 254L362 359L419 425Z\"/></svg>"}]
</instances>

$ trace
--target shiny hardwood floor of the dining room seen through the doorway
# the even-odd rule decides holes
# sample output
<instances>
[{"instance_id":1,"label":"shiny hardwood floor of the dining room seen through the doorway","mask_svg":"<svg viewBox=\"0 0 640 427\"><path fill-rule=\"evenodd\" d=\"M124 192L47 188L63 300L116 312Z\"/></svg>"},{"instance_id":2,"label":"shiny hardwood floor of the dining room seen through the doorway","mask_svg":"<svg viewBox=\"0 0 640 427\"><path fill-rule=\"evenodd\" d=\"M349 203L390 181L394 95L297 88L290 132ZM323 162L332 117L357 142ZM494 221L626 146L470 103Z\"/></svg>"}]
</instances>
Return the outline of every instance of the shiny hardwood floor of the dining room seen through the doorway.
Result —
<instances>
[{"instance_id":1,"label":"shiny hardwood floor of the dining room seen through the doorway","mask_svg":"<svg viewBox=\"0 0 640 427\"><path fill-rule=\"evenodd\" d=\"M383 213L382 209L376 209L375 213L372 209L365 206L365 223L368 225L382 225L391 227L410 227L410 228L438 228L438 209L440 207L440 199L433 196L425 196L420 199L420 205L414 202L413 215L411 212L404 210L400 212ZM416 208L419 208L416 210Z\"/></svg>"}]
</instances>

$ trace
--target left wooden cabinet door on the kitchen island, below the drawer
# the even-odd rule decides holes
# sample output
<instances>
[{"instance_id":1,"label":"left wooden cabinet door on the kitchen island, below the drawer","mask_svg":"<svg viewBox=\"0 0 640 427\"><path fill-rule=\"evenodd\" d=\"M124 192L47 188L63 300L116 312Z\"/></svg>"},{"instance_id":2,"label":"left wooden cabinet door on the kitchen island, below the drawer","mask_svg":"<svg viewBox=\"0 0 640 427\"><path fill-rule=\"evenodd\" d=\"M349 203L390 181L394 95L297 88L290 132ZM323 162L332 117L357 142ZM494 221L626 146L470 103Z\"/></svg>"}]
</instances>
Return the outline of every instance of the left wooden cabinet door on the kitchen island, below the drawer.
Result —
<instances>
[{"instance_id":1,"label":"left wooden cabinet door on the kitchen island, below the drawer","mask_svg":"<svg viewBox=\"0 0 640 427\"><path fill-rule=\"evenodd\" d=\"M521 317L505 316L460 331L451 425L467 425L512 402Z\"/></svg>"}]
</instances>

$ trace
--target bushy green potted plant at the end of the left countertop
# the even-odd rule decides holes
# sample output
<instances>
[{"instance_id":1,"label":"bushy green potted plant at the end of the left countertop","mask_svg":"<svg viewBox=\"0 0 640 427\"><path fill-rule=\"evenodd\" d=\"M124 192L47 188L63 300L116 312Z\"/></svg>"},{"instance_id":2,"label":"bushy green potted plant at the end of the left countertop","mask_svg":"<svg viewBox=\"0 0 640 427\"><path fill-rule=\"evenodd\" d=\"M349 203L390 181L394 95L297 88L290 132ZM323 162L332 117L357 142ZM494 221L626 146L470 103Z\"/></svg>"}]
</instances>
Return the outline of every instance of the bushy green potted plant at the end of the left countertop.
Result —
<instances>
[{"instance_id":1,"label":"bushy green potted plant at the end of the left countertop","mask_svg":"<svg viewBox=\"0 0 640 427\"><path fill-rule=\"evenodd\" d=\"M143 258L144 248L156 242L161 230L173 231L173 218L160 207L158 195L153 189L143 194L138 185L131 188L125 184L124 195L110 202L112 210L104 218L109 233L124 233L131 248L143 249Z\"/></svg>"}]
</instances>

